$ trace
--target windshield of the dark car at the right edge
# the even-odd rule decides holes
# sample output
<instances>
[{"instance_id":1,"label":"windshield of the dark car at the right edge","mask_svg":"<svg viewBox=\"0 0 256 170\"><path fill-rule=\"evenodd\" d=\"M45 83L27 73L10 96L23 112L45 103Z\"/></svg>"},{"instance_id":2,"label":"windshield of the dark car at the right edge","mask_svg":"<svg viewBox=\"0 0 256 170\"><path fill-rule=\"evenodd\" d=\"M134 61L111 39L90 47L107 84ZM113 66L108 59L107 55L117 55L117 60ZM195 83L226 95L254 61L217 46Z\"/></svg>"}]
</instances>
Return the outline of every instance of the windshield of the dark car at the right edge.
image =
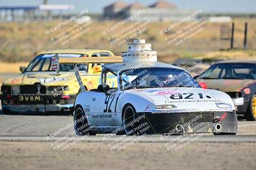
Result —
<instances>
[{"instance_id":1,"label":"windshield of the dark car at the right edge","mask_svg":"<svg viewBox=\"0 0 256 170\"><path fill-rule=\"evenodd\" d=\"M214 64L202 75L202 79L256 79L256 64Z\"/></svg>"}]
</instances>

